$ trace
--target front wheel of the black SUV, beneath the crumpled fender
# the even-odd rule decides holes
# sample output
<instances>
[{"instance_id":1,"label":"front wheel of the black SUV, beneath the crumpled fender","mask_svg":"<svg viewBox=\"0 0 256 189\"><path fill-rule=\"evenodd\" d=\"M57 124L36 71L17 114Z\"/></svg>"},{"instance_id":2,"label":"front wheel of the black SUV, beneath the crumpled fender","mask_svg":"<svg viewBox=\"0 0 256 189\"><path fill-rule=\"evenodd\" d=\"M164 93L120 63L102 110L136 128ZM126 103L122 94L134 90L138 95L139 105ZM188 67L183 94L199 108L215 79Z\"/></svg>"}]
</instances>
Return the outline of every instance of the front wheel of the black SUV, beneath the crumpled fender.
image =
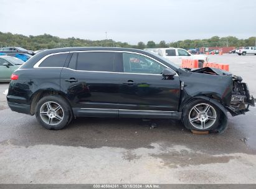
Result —
<instances>
[{"instance_id":1,"label":"front wheel of the black SUV, beneath the crumpled fender","mask_svg":"<svg viewBox=\"0 0 256 189\"><path fill-rule=\"evenodd\" d=\"M219 126L219 119L219 108L204 99L194 99L183 108L182 121L190 130L212 131Z\"/></svg>"}]
</instances>

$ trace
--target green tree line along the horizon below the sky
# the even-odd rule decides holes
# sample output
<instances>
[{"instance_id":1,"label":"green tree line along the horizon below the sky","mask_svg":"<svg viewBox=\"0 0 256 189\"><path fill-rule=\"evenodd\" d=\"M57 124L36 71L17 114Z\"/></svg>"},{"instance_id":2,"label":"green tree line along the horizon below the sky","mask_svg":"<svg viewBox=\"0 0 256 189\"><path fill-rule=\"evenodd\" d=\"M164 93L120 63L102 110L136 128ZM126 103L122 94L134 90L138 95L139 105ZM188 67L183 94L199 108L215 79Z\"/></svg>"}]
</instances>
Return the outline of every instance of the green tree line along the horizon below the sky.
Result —
<instances>
[{"instance_id":1,"label":"green tree line along the horizon below the sky","mask_svg":"<svg viewBox=\"0 0 256 189\"><path fill-rule=\"evenodd\" d=\"M128 47L128 48L164 48L164 47L180 47L180 48L199 48L199 47L246 47L255 46L256 37L248 39L238 39L234 36L218 37L214 36L210 39L186 39L177 42L159 43L149 40L146 44L138 42L137 45L131 45L127 42L116 42L111 39L106 40L88 40L69 37L63 39L49 34L44 35L20 35L11 34L10 32L0 32L0 47L17 46L27 48L29 50L39 50L40 48L59 48L59 47Z\"/></svg>"}]
</instances>

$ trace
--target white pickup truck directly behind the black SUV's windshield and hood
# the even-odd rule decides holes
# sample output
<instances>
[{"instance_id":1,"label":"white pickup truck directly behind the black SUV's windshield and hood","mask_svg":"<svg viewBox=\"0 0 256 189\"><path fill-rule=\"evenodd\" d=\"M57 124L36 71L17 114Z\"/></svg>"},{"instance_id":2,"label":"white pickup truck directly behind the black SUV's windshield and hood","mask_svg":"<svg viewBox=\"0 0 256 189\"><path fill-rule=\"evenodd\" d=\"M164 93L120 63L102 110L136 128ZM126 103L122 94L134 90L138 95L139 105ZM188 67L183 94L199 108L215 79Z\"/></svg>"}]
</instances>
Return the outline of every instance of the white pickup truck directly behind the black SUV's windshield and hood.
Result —
<instances>
[{"instance_id":1,"label":"white pickup truck directly behind the black SUV's windshield and hood","mask_svg":"<svg viewBox=\"0 0 256 189\"><path fill-rule=\"evenodd\" d=\"M192 55L183 48L145 48L144 50L157 53L161 57L167 58L179 66L181 65L183 59L199 60L201 63L208 61L208 57L206 55Z\"/></svg>"}]
</instances>

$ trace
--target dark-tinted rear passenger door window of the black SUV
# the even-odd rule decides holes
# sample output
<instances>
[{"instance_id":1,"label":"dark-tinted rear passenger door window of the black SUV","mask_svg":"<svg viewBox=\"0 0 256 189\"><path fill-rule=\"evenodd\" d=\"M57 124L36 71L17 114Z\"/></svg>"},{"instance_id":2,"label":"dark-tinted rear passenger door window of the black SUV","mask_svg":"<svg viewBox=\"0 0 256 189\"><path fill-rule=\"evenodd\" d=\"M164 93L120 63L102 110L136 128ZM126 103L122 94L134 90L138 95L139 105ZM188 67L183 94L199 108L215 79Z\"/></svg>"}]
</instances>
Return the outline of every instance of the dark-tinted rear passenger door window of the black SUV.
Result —
<instances>
[{"instance_id":1,"label":"dark-tinted rear passenger door window of the black SUV","mask_svg":"<svg viewBox=\"0 0 256 189\"><path fill-rule=\"evenodd\" d=\"M114 71L114 52L78 53L77 70Z\"/></svg>"}]
</instances>

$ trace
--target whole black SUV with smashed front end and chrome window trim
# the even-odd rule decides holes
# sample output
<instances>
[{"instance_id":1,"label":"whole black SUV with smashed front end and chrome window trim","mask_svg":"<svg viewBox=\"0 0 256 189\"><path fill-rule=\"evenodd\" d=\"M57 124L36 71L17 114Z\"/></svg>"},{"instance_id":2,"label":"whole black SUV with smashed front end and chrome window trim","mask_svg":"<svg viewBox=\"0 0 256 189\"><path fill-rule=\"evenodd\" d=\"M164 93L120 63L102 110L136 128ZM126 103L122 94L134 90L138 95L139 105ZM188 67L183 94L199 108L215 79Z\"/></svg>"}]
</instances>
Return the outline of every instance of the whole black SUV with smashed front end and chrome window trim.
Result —
<instances>
[{"instance_id":1,"label":"whole black SUV with smashed front end and chrome window trim","mask_svg":"<svg viewBox=\"0 0 256 189\"><path fill-rule=\"evenodd\" d=\"M187 129L224 131L254 106L242 78L214 68L185 70L131 48L45 50L11 76L12 111L34 115L47 129L76 117L181 119Z\"/></svg>"}]
</instances>

